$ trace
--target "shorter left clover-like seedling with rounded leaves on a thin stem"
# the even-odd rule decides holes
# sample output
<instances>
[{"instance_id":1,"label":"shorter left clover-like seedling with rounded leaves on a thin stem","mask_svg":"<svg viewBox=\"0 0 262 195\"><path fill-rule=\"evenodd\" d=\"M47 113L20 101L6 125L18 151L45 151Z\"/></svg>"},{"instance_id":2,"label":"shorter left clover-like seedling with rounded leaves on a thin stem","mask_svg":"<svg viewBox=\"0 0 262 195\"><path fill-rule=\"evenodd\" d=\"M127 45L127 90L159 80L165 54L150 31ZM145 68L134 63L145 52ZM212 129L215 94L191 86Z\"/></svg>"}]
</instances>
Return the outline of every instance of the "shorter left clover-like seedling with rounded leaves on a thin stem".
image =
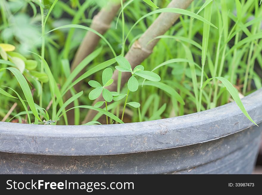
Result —
<instances>
[{"instance_id":1,"label":"shorter left clover-like seedling with rounded leaves on a thin stem","mask_svg":"<svg viewBox=\"0 0 262 195\"><path fill-rule=\"evenodd\" d=\"M113 83L114 80L111 79L112 75L113 75L113 70L111 68L106 68L102 73L103 86L95 80L91 80L91 81L88 82L88 84L91 87L95 88L89 93L88 98L91 99L91 100L97 99L102 93L102 96L105 99L105 101L96 102L94 107L96 107L96 108L101 107L105 103L105 108L106 108L106 111L107 111L107 102L112 102L113 96L118 95L117 92L111 92L111 91L109 91L108 89L105 88L105 87L107 87L107 86L109 86ZM107 121L107 124L108 124L107 115L106 115L106 121Z\"/></svg>"}]
</instances>

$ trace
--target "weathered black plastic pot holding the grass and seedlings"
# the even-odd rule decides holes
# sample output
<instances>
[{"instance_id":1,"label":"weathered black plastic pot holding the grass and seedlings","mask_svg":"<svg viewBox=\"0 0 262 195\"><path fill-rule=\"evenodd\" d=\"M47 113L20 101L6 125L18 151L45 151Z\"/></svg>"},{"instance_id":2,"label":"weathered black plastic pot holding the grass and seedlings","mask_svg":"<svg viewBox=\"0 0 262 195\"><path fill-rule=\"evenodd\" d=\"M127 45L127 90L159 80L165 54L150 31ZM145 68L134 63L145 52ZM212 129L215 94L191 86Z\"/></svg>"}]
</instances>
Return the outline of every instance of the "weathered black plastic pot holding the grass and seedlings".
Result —
<instances>
[{"instance_id":1,"label":"weathered black plastic pot holding the grass and seedlings","mask_svg":"<svg viewBox=\"0 0 262 195\"><path fill-rule=\"evenodd\" d=\"M262 122L262 89L242 99ZM262 123L261 123L262 124ZM236 103L141 123L45 126L0 122L0 173L251 173L261 127Z\"/></svg>"}]
</instances>

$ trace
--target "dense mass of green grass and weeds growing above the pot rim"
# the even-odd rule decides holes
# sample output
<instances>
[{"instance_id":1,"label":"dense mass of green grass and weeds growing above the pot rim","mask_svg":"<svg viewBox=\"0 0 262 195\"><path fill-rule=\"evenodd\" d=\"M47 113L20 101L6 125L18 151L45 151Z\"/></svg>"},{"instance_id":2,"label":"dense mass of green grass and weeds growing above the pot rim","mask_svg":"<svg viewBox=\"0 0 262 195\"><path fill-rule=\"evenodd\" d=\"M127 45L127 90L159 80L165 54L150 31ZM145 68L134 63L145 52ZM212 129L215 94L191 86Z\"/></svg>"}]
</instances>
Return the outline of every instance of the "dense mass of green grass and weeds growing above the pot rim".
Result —
<instances>
[{"instance_id":1,"label":"dense mass of green grass and weeds growing above the pot rim","mask_svg":"<svg viewBox=\"0 0 262 195\"><path fill-rule=\"evenodd\" d=\"M22 7L6 0L0 3L0 86L7 86L0 88L0 118L9 113L5 121L18 118L31 123L35 119L35 124L42 124L51 120L57 121L54 125L67 125L66 109L73 104L69 110L74 109L75 124L83 121L89 109L98 114L85 125L102 124L102 115L106 124L136 122L185 115L235 101L256 124L240 97L262 87L261 2L198 0L183 10L165 8L166 1L154 1L156 5L150 0L120 0L121 9L112 24L116 28L102 35L87 27L92 13L100 9L92 0L82 5L79 1L18 1ZM160 40L153 53L132 69L124 58L128 45L163 12L181 16L165 35L155 38ZM31 52L21 47L26 42L24 35L13 30L15 20L9 18L17 15L32 21L35 28L28 33L33 31L41 40L40 45L30 45ZM11 31L13 34L8 33ZM71 72L70 62L86 31L102 41ZM82 70L85 73L78 76ZM113 81L114 70L119 73L118 80ZM130 78L121 88L123 72L129 72ZM81 81L85 84L80 92L75 91L74 85ZM109 85L116 85L116 92L108 91ZM72 95L69 99L68 92ZM101 93L105 101L91 106Z\"/></svg>"}]
</instances>

